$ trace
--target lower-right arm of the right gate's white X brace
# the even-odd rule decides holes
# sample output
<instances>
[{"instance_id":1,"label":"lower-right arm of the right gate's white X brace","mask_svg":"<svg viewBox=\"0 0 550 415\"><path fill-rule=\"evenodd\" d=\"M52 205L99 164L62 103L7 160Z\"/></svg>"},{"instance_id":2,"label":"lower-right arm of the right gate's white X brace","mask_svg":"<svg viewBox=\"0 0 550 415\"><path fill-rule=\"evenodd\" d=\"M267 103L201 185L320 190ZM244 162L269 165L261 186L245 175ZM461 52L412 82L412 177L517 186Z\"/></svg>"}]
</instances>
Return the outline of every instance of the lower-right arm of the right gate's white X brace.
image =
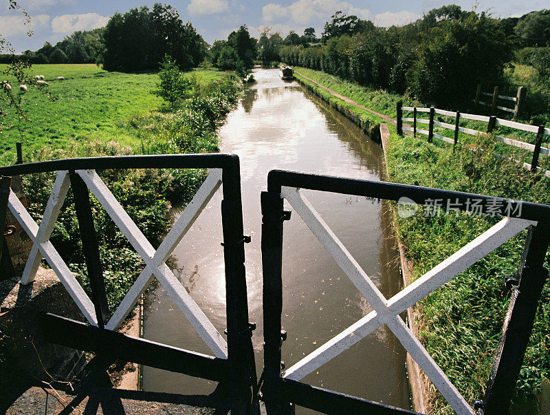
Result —
<instances>
[{"instance_id":1,"label":"lower-right arm of the right gate's white X brace","mask_svg":"<svg viewBox=\"0 0 550 415\"><path fill-rule=\"evenodd\" d=\"M443 395L451 405L454 412L459 415L474 414L474 409L468 405L461 393L451 383L443 370L439 368L430 354L423 348L420 341L416 338L404 321L399 316L393 316L386 321L388 328L399 339L401 345L409 352L412 359L418 363L420 368L426 373L430 381L437 387L437 390Z\"/></svg>"}]
</instances>

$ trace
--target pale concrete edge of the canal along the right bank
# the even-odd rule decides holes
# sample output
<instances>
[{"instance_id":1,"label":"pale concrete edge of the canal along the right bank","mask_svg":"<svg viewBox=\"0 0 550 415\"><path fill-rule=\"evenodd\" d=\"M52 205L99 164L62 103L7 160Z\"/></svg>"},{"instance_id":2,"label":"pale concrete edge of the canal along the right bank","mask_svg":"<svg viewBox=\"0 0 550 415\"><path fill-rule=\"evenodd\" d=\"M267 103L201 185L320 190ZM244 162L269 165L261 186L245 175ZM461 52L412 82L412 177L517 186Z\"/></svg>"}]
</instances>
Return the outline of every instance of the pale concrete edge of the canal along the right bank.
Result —
<instances>
[{"instance_id":1,"label":"pale concrete edge of the canal along the right bank","mask_svg":"<svg viewBox=\"0 0 550 415\"><path fill-rule=\"evenodd\" d=\"M384 153L384 178L389 178L389 172L388 172L388 140L390 138L390 130L388 129L388 125L385 123L380 124L380 141L382 142L382 152ZM393 215L393 226L394 228L397 227L397 212L395 209L392 209L392 215ZM411 264L408 261L406 255L405 255L405 248L403 245L403 242L401 241L401 237L399 237L399 233L397 232L397 228L395 228L395 238L397 240L397 246L399 248L399 263L401 265L401 277L403 278L403 286L406 287L412 282L412 272L411 272ZM419 317L419 312L417 309L417 306L412 306L411 308L407 309L407 323L412 330L413 333L415 333L415 336L418 338L418 326L417 326L417 317ZM421 369L418 365L418 363L415 362L414 359L410 356L410 354L407 353L407 374L408 374L408 381L410 385L410 392L412 395L412 405L416 412L420 412L421 414L426 414L426 384L422 380L421 376Z\"/></svg>"}]
</instances>

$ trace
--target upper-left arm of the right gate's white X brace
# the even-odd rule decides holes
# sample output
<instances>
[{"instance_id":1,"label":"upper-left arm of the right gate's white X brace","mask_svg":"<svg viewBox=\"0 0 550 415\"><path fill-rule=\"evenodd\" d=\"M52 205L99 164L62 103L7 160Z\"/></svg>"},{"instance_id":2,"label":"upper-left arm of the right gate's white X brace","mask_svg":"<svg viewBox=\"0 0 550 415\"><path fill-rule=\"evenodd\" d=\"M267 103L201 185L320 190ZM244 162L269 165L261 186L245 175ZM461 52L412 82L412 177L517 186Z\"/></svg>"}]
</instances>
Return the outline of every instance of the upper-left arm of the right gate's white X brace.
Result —
<instances>
[{"instance_id":1,"label":"upper-left arm of the right gate's white X brace","mask_svg":"<svg viewBox=\"0 0 550 415\"><path fill-rule=\"evenodd\" d=\"M322 220L322 217L311 206L309 200L301 195L298 189L292 187L283 187L281 195L290 203L294 211L300 215L323 248L336 261L336 264L342 268L355 287L360 290L366 301L369 301L372 308L377 310L379 314L380 310L385 310L386 298L382 295L382 292L380 292L369 276L362 270L361 266L351 256L331 228Z\"/></svg>"}]
</instances>

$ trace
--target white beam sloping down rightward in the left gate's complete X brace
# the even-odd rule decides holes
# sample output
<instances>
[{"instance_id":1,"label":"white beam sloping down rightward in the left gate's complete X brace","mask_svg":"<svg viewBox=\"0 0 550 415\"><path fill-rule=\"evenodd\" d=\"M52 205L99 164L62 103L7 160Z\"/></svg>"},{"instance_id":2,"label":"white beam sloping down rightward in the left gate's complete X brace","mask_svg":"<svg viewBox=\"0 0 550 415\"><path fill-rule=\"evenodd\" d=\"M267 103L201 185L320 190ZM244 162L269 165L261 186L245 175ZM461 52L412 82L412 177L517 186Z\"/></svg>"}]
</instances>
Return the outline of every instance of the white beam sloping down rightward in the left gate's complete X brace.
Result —
<instances>
[{"instance_id":1,"label":"white beam sloping down rightward in the left gate's complete X brace","mask_svg":"<svg viewBox=\"0 0 550 415\"><path fill-rule=\"evenodd\" d=\"M140 257L144 259L146 265L151 267L151 271L159 279L166 292L173 298L175 304L184 313L214 355L221 358L227 357L227 343L225 343L225 339L214 328L212 322L197 306L170 268L164 263L161 266L155 264L153 261L155 248L148 242L142 231L137 228L131 217L120 206L118 200L116 200L113 193L109 191L97 173L86 170L77 170L76 173L83 178L91 193L94 193L94 196L96 196L105 211L107 211L113 222L124 233Z\"/></svg>"}]
</instances>

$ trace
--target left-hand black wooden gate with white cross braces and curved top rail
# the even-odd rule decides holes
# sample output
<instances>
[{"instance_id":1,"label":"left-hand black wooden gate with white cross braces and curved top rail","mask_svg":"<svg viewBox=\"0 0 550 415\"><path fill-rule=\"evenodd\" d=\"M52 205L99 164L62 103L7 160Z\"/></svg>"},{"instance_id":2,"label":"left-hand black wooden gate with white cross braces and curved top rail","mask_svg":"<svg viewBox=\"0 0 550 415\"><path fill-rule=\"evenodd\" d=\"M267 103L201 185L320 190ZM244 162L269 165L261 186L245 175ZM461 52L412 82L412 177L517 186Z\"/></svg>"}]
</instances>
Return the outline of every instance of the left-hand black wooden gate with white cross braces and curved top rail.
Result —
<instances>
[{"instance_id":1,"label":"left-hand black wooden gate with white cross braces and curved top rail","mask_svg":"<svg viewBox=\"0 0 550 415\"><path fill-rule=\"evenodd\" d=\"M101 169L209 169L209 174L155 251L96 173L96 170ZM248 321L243 246L250 238L243 235L239 158L230 154L76 158L1 167L0 175L25 175L53 171L57 172L57 178L40 226L34 222L13 192L9 193L8 198L8 208L34 243L23 271L21 284L34 281L36 270L42 258L45 258L88 321L85 324L56 315L46 315L43 320L46 339L79 350L95 352L102 357L123 359L153 368L219 381L220 385L228 385L231 398L235 402L242 407L249 407L256 387L256 370L251 339L254 325ZM165 264L222 184L221 217L225 260L227 342ZM50 242L50 235L69 187L72 187L74 193L78 226L91 285L91 298L78 284L67 264ZM146 264L116 310L109 310L107 305L89 192L100 202ZM153 276L172 297L214 356L173 348L145 339L136 339L114 331L133 309Z\"/></svg>"}]
</instances>

